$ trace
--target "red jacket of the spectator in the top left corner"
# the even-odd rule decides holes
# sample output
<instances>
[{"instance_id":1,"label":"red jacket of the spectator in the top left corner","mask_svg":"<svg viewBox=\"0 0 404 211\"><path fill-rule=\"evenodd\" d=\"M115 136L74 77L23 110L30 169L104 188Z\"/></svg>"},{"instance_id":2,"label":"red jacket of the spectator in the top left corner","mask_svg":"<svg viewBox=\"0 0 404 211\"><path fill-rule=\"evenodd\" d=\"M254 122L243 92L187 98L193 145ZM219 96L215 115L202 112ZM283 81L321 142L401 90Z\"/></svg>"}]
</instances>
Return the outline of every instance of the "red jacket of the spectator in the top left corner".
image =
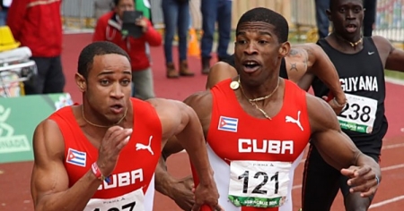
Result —
<instances>
[{"instance_id":1,"label":"red jacket of the spectator in the top left corner","mask_svg":"<svg viewBox=\"0 0 404 211\"><path fill-rule=\"evenodd\" d=\"M15 40L30 47L32 56L54 57L62 53L61 0L14 0L7 25Z\"/></svg>"}]
</instances>

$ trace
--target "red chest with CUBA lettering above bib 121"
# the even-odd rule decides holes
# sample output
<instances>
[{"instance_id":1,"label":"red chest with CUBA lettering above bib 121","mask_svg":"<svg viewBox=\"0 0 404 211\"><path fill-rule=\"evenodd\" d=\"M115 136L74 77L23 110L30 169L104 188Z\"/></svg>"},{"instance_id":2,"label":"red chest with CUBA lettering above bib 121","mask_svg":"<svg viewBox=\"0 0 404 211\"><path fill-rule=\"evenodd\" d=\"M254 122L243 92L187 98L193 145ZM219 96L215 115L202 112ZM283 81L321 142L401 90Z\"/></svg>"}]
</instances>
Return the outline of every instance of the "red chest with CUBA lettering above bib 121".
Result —
<instances>
[{"instance_id":1,"label":"red chest with CUBA lettering above bib 121","mask_svg":"<svg viewBox=\"0 0 404 211\"><path fill-rule=\"evenodd\" d=\"M207 135L215 154L234 160L293 162L310 138L310 126L302 111L279 114L272 120L219 115ZM303 117L303 118L302 118ZM215 128L215 129L214 129Z\"/></svg>"}]
</instances>

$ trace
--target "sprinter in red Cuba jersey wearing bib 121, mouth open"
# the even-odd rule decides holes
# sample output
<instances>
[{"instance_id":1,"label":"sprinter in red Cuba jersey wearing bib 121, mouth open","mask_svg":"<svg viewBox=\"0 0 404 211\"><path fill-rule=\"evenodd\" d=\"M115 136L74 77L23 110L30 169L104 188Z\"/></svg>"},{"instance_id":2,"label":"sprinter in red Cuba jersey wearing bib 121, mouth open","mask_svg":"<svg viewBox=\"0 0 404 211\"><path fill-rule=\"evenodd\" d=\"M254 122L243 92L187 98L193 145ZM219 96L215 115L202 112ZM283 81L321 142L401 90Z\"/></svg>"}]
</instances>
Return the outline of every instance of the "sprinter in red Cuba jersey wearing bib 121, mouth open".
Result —
<instances>
[{"instance_id":1,"label":"sprinter in red Cuba jersey wearing bib 121, mouth open","mask_svg":"<svg viewBox=\"0 0 404 211\"><path fill-rule=\"evenodd\" d=\"M351 191L367 197L381 179L379 165L340 130L326 102L279 78L282 57L290 50L287 35L280 14L266 8L244 13L234 46L240 75L185 100L204 129L219 204L226 211L292 210L294 169L309 139L351 178ZM156 180L163 184L169 176L161 170Z\"/></svg>"}]
</instances>

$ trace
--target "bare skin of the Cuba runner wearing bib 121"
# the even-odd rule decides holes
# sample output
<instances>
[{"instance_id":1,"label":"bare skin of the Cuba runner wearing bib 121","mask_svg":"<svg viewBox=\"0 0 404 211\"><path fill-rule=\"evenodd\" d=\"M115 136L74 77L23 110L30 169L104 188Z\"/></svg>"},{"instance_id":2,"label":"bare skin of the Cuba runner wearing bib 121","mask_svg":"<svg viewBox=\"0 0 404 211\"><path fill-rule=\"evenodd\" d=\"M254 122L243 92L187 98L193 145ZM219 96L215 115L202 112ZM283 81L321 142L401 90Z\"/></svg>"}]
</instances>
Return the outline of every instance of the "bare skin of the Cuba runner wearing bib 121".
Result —
<instances>
[{"instance_id":1,"label":"bare skin of the Cuba runner wearing bib 121","mask_svg":"<svg viewBox=\"0 0 404 211\"><path fill-rule=\"evenodd\" d=\"M249 98L266 96L277 86L281 58L289 53L290 44L280 43L274 33L276 29L266 22L242 23L239 29L234 46L235 64L240 72L245 95ZM251 61L259 63L259 67L253 72L243 65ZM277 115L283 106L284 91L285 81L280 79L279 88L274 95L259 106L269 116ZM247 98L242 95L241 89L234 90L234 94L247 114L265 118L258 109L250 105ZM205 137L211 122L212 100L210 91L196 93L185 100L185 103L198 114ZM351 177L348 184L355 186L352 191L360 192L363 197L372 195L377 190L375 176L381 176L379 165L371 157L362 154L352 140L341 131L337 117L327 103L310 94L306 94L306 103L312 143L319 148L321 156L329 165ZM171 141L174 142L175 139L170 139ZM170 155L171 149L173 148L164 148L163 152ZM156 184L162 184L161 189L176 189L167 185L170 183L170 177L161 166L158 166Z\"/></svg>"}]
</instances>

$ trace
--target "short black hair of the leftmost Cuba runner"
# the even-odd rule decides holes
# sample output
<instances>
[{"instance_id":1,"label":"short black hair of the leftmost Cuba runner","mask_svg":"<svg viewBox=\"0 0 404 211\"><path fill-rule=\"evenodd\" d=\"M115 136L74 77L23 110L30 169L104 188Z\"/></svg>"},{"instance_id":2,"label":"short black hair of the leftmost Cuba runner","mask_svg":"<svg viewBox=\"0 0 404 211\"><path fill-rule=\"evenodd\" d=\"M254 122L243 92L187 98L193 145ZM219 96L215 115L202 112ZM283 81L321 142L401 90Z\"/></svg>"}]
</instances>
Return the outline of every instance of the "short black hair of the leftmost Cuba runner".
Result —
<instances>
[{"instance_id":1,"label":"short black hair of the leftmost Cuba runner","mask_svg":"<svg viewBox=\"0 0 404 211\"><path fill-rule=\"evenodd\" d=\"M92 69L92 63L95 55L123 55L127 57L127 60L130 62L129 55L127 52L108 41L98 41L93 42L92 44L85 46L82 52L79 55L79 61L77 66L77 72L83 75L84 79L87 80L88 73Z\"/></svg>"}]
</instances>

